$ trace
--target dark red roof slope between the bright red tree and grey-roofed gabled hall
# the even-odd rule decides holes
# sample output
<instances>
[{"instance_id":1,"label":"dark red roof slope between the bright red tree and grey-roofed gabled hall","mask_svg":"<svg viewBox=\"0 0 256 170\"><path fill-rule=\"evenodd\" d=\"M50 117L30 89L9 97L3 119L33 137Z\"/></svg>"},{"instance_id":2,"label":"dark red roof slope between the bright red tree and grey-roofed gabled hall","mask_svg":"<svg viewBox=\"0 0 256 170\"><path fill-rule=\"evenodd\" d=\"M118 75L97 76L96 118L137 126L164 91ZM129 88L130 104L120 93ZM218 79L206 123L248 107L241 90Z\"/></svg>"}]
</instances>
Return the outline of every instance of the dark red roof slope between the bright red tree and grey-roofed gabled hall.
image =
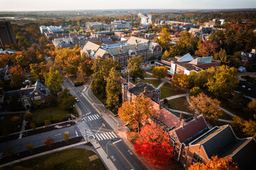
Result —
<instances>
[{"instance_id":1,"label":"dark red roof slope between the bright red tree and grey-roofed gabled hall","mask_svg":"<svg viewBox=\"0 0 256 170\"><path fill-rule=\"evenodd\" d=\"M192 137L197 132L206 128L206 121L203 118L203 115L199 115L197 120L193 119L190 122L184 125L184 128L176 128L175 132L178 137L179 142L184 142L189 137Z\"/></svg>"}]
</instances>

